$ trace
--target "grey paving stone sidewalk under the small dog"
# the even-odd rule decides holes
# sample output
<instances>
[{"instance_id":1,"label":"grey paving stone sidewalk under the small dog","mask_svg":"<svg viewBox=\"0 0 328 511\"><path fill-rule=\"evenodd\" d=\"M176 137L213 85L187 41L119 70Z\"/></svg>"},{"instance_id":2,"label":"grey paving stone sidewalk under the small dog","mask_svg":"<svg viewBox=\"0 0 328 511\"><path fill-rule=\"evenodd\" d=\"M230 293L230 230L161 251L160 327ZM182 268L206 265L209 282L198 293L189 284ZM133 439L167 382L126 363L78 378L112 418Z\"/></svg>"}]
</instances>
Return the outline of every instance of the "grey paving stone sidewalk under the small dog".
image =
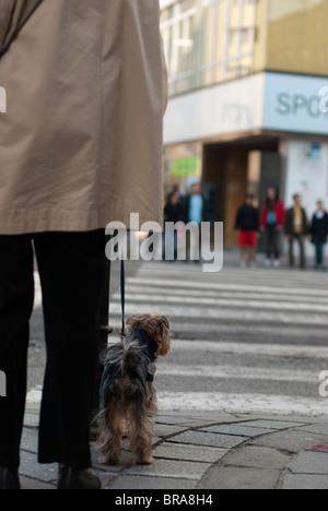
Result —
<instances>
[{"instance_id":1,"label":"grey paving stone sidewalk under the small dog","mask_svg":"<svg viewBox=\"0 0 328 511\"><path fill-rule=\"evenodd\" d=\"M23 489L56 489L57 466L37 464L37 409L22 441ZM152 466L133 464L125 440L119 466L98 464L104 489L328 489L323 418L165 412L157 417ZM327 445L326 445L327 448Z\"/></svg>"}]
</instances>

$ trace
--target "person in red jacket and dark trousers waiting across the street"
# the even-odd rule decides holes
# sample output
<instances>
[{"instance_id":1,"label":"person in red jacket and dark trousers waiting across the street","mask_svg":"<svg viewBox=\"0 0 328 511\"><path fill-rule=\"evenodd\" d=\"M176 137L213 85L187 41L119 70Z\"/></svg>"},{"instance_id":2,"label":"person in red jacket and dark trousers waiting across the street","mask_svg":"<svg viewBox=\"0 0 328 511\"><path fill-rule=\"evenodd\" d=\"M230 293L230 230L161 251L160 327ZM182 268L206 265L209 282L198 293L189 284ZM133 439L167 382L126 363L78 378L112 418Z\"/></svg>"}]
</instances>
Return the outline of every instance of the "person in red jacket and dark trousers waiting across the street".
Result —
<instances>
[{"instance_id":1,"label":"person in red jacket and dark trousers waiting across the street","mask_svg":"<svg viewBox=\"0 0 328 511\"><path fill-rule=\"evenodd\" d=\"M285 209L277 188L269 188L261 210L260 229L266 235L266 266L280 266L280 233L283 230Z\"/></svg>"}]
</instances>

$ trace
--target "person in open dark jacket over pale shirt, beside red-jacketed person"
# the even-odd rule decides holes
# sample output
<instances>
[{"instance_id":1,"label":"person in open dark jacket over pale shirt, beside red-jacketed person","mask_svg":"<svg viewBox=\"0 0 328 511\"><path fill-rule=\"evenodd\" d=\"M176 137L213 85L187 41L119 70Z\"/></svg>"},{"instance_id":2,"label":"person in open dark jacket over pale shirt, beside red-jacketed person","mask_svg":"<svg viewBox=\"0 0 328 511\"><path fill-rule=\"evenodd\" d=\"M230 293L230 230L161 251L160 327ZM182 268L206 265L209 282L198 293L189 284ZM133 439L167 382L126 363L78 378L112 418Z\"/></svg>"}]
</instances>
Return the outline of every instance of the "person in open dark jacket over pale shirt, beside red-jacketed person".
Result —
<instances>
[{"instance_id":1,"label":"person in open dark jacket over pale shirt, beside red-jacketed person","mask_svg":"<svg viewBox=\"0 0 328 511\"><path fill-rule=\"evenodd\" d=\"M295 266L294 243L300 248L300 268L305 269L305 238L308 234L307 216L302 207L302 197L295 193L294 205L290 207L285 215L284 234L290 243L290 268Z\"/></svg>"}]
</instances>

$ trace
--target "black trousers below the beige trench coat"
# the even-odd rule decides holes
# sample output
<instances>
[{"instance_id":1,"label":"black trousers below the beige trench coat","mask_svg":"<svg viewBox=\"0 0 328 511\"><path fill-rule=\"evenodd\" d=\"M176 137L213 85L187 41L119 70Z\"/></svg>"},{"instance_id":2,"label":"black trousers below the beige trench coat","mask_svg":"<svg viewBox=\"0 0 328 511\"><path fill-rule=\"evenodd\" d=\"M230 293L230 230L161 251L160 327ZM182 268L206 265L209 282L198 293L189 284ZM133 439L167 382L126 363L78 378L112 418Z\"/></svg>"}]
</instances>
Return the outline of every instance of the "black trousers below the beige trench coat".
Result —
<instances>
[{"instance_id":1,"label":"black trousers below the beige trench coat","mask_svg":"<svg viewBox=\"0 0 328 511\"><path fill-rule=\"evenodd\" d=\"M47 366L39 462L91 466L90 421L98 360L98 309L105 276L103 230L0 236L0 466L20 464L26 395L33 247L43 289Z\"/></svg>"}]
</instances>

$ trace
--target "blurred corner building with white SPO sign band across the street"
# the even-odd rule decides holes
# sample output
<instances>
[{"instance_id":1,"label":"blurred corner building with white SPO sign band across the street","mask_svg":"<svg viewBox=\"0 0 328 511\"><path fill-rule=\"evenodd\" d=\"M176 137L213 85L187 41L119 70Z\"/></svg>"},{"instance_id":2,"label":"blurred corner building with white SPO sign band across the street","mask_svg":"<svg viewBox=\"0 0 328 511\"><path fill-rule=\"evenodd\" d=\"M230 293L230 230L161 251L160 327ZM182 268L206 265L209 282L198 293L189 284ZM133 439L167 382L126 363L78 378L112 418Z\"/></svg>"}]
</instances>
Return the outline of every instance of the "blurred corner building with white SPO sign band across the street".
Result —
<instances>
[{"instance_id":1,"label":"blurred corner building with white SPO sign band across the street","mask_svg":"<svg viewBox=\"0 0 328 511\"><path fill-rule=\"evenodd\" d=\"M162 0L165 183L203 182L235 245L247 191L328 207L327 0Z\"/></svg>"}]
</instances>

